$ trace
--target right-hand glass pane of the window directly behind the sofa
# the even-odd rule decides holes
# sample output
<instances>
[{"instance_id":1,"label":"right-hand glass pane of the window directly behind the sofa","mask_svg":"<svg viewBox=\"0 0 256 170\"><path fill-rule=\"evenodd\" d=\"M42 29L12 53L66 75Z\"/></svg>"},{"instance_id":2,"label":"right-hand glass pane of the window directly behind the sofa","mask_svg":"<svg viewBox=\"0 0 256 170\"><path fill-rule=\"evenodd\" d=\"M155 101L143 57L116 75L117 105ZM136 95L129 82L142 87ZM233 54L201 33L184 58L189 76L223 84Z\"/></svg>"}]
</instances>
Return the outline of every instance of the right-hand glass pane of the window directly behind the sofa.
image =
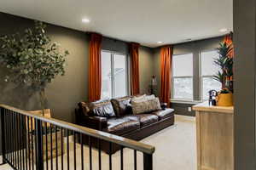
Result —
<instances>
[{"instance_id":1,"label":"right-hand glass pane of the window directly behind the sofa","mask_svg":"<svg viewBox=\"0 0 256 170\"><path fill-rule=\"evenodd\" d=\"M127 94L126 56L114 54L114 97L123 97Z\"/></svg>"}]
</instances>

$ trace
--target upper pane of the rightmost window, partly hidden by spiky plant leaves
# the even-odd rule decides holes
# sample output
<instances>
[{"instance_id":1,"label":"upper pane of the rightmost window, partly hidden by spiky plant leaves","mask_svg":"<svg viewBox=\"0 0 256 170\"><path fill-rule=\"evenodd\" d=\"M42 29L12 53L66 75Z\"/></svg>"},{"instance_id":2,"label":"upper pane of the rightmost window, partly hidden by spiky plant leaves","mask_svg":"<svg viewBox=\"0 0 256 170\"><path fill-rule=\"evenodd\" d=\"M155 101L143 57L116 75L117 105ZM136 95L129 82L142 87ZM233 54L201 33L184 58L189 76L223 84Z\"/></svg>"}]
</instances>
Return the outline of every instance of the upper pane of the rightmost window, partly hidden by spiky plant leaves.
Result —
<instances>
[{"instance_id":1,"label":"upper pane of the rightmost window, partly hidden by spiky plant leaves","mask_svg":"<svg viewBox=\"0 0 256 170\"><path fill-rule=\"evenodd\" d=\"M214 59L218 57L217 50L201 53L201 75L212 76L219 71L219 68L214 64Z\"/></svg>"}]
</instances>

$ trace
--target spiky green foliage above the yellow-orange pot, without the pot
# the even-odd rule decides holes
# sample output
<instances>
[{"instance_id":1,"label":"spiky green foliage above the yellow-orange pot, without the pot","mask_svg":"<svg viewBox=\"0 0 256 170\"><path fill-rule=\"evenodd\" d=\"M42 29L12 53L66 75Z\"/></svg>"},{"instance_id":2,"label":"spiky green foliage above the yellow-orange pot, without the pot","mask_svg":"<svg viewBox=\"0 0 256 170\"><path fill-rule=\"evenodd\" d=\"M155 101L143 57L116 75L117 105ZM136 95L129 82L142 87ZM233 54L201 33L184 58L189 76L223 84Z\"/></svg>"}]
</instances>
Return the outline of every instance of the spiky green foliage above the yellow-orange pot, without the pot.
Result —
<instances>
[{"instance_id":1,"label":"spiky green foliage above the yellow-orange pot, without the pot","mask_svg":"<svg viewBox=\"0 0 256 170\"><path fill-rule=\"evenodd\" d=\"M214 60L214 63L219 66L221 71L218 71L213 79L221 82L222 89L228 89L233 92L233 57L230 56L233 50L233 45L228 45L226 42L220 43L218 48L218 58Z\"/></svg>"}]
</instances>

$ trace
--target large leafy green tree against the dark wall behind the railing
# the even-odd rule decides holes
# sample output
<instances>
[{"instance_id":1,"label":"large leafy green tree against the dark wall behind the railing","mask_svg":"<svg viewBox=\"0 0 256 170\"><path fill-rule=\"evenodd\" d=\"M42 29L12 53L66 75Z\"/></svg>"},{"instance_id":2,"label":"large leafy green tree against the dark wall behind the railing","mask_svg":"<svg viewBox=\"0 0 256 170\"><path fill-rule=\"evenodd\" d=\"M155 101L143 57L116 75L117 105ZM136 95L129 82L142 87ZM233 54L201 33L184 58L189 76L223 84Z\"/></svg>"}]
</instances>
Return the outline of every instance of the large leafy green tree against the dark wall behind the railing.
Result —
<instances>
[{"instance_id":1,"label":"large leafy green tree against the dark wall behind the railing","mask_svg":"<svg viewBox=\"0 0 256 170\"><path fill-rule=\"evenodd\" d=\"M51 42L45 33L46 25L35 21L23 34L0 37L0 64L9 70L6 82L26 85L39 92L45 109L45 88L57 75L64 76L68 51L61 52L60 44Z\"/></svg>"}]
</instances>

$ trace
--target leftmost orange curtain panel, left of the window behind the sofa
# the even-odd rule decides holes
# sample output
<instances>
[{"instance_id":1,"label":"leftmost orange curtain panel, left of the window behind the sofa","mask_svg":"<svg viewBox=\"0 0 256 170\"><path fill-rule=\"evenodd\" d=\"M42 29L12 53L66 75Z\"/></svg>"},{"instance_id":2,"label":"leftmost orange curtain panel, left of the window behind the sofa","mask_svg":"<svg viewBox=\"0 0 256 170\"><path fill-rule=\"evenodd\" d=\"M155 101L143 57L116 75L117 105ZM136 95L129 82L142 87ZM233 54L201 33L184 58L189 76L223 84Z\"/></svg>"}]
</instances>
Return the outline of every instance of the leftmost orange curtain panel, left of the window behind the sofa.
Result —
<instances>
[{"instance_id":1,"label":"leftmost orange curtain panel, left of the window behind the sofa","mask_svg":"<svg viewBox=\"0 0 256 170\"><path fill-rule=\"evenodd\" d=\"M91 33L89 43L89 101L101 99L102 35Z\"/></svg>"}]
</instances>

